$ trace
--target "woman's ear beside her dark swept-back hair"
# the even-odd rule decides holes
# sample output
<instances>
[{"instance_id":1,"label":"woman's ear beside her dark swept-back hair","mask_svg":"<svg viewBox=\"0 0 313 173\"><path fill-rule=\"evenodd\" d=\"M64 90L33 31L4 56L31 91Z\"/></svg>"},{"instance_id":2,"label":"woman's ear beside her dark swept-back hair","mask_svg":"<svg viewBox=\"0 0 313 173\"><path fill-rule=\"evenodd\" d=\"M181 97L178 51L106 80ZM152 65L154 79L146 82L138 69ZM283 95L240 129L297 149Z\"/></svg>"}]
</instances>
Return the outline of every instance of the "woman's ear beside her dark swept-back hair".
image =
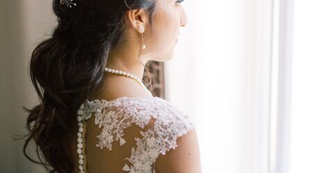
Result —
<instances>
[{"instance_id":1,"label":"woman's ear beside her dark swept-back hair","mask_svg":"<svg viewBox=\"0 0 313 173\"><path fill-rule=\"evenodd\" d=\"M141 33L140 26L146 26L148 22L147 11L144 9L128 10L126 15L130 26Z\"/></svg>"}]
</instances>

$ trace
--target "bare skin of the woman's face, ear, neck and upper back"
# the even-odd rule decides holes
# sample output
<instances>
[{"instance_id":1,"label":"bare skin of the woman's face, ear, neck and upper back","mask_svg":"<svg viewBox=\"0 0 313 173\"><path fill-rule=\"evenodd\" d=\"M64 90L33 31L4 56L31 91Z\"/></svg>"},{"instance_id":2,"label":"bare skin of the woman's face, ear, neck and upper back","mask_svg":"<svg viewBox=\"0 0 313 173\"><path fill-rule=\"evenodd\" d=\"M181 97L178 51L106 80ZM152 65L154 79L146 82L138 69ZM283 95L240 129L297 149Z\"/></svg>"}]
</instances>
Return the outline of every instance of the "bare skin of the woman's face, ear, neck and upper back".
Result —
<instances>
[{"instance_id":1,"label":"bare skin of the woman's face, ear, neck and upper back","mask_svg":"<svg viewBox=\"0 0 313 173\"><path fill-rule=\"evenodd\" d=\"M148 61L165 62L172 58L179 28L187 25L187 17L184 8L177 0L157 0L157 8L154 15L154 33L149 35L149 15L143 9L129 10L127 12L127 39L116 50L109 53L106 67L118 69L136 75L143 79L144 66ZM138 26L145 26L142 36ZM145 44L145 50L141 50ZM138 55L140 58L139 62ZM125 88L124 86L127 86ZM106 73L103 83L97 92L89 96L89 100L101 97L113 100L121 96L150 95L135 80L122 75Z\"/></svg>"}]
</instances>

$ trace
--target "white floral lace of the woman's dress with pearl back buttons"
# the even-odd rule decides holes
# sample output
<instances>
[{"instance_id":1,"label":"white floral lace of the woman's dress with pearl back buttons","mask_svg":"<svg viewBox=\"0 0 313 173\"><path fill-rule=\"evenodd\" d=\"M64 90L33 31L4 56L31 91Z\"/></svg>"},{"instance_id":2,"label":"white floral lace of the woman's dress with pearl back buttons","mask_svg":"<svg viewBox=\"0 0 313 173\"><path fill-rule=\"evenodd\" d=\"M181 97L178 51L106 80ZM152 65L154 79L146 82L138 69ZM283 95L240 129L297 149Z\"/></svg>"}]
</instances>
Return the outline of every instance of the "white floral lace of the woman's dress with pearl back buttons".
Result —
<instances>
[{"instance_id":1,"label":"white floral lace of the woman's dress with pearl back buttons","mask_svg":"<svg viewBox=\"0 0 313 173\"><path fill-rule=\"evenodd\" d=\"M132 125L143 129L151 118L155 118L152 128L140 131L141 138L134 138L136 147L131 148L129 152L131 155L125 158L124 166L120 167L121 170L132 173L155 172L152 165L159 154L166 154L170 149L175 149L177 137L195 127L190 117L159 97L129 98L124 96L110 101L86 100L81 105L78 114L82 119L82 124L79 126L85 130L86 125L83 122L92 115L95 116L95 125L102 128L101 134L95 134L99 139L95 147L110 151L113 141L119 141L120 147L128 142L124 139L124 129ZM82 152L79 155L83 154L84 148L81 147ZM85 159L82 159L83 156ZM86 170L86 155L83 154L83 156L79 156L83 160L79 169L86 173L88 171Z\"/></svg>"}]
</instances>

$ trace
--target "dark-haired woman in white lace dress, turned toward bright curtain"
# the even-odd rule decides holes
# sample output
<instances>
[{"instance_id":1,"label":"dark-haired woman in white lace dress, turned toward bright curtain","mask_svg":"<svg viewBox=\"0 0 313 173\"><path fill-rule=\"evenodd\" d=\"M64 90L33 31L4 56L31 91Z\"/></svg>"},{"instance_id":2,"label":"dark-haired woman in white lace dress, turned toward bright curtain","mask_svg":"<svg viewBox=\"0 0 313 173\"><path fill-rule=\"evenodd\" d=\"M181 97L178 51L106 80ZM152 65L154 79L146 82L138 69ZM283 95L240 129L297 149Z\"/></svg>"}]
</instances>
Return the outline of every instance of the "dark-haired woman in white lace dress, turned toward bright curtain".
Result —
<instances>
[{"instance_id":1,"label":"dark-haired woman in white lace dress, turned toward bright curtain","mask_svg":"<svg viewBox=\"0 0 313 173\"><path fill-rule=\"evenodd\" d=\"M182 1L54 0L58 26L31 57L41 104L26 109L24 154L33 139L50 172L200 172L193 122L141 81L172 57Z\"/></svg>"}]
</instances>

